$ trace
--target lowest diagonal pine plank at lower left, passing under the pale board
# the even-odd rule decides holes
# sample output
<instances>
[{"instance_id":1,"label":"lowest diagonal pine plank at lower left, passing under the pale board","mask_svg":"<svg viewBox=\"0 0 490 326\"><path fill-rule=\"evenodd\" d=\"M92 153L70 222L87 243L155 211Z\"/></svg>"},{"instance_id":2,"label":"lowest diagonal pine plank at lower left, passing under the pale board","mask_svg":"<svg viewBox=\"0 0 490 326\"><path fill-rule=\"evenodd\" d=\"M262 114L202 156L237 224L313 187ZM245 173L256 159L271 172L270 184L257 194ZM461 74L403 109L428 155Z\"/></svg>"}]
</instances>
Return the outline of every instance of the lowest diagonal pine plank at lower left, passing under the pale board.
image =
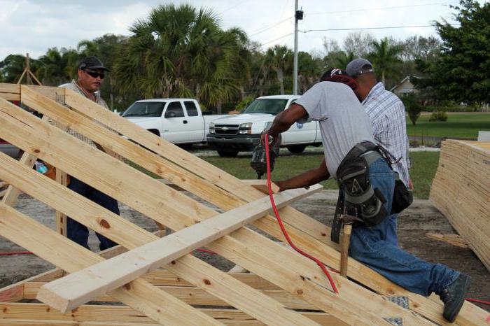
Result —
<instances>
[{"instance_id":1,"label":"lowest diagonal pine plank at lower left, passing under the pale board","mask_svg":"<svg viewBox=\"0 0 490 326\"><path fill-rule=\"evenodd\" d=\"M65 271L77 271L103 260L99 255L78 246L61 234L3 203L0 203L0 217L1 236L15 241L18 245L32 251L34 255ZM221 325L218 321L143 280L133 281L131 287L114 290L110 295L160 323L179 325L178 316L184 314L181 316L188 316L193 323Z\"/></svg>"}]
</instances>

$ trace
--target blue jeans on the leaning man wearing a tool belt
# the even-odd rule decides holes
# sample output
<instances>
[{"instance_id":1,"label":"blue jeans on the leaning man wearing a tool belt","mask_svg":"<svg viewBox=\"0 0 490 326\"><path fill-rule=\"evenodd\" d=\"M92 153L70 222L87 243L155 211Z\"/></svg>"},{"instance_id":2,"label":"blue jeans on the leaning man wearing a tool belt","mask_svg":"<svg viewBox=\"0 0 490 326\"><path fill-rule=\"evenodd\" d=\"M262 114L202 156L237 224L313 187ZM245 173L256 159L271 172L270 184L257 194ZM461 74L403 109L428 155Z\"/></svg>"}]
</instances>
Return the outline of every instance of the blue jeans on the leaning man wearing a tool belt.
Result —
<instances>
[{"instance_id":1,"label":"blue jeans on the leaning man wearing a tool belt","mask_svg":"<svg viewBox=\"0 0 490 326\"><path fill-rule=\"evenodd\" d=\"M393 171L382 159L373 162L369 169L371 185L384 195L384 208L389 212L395 187ZM396 218L391 215L374 227L353 227L349 255L411 292L425 296L431 292L440 294L456 280L459 272L443 264L425 262L398 248L391 234L393 221L396 222Z\"/></svg>"}]
</instances>

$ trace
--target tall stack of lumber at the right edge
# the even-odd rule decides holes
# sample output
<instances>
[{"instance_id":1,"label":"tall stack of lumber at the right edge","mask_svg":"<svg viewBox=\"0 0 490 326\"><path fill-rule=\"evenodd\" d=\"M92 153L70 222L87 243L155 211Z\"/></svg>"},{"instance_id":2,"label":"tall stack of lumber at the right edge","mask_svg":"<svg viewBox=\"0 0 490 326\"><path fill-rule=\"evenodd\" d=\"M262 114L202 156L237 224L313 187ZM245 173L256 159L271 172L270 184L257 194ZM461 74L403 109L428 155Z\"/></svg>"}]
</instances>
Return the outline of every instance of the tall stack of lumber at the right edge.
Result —
<instances>
[{"instance_id":1,"label":"tall stack of lumber at the right edge","mask_svg":"<svg viewBox=\"0 0 490 326\"><path fill-rule=\"evenodd\" d=\"M490 142L444 141L430 201L490 270Z\"/></svg>"}]
</instances>

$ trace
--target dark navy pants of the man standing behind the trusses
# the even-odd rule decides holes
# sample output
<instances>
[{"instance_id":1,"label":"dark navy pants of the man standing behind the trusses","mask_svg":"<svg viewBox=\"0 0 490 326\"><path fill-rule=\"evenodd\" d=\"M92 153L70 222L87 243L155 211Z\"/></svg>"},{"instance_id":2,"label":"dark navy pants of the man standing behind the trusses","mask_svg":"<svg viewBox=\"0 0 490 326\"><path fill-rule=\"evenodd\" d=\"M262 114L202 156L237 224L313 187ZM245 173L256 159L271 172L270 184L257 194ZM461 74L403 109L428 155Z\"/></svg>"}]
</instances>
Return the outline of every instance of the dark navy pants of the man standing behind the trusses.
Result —
<instances>
[{"instance_id":1,"label":"dark navy pants of the man standing behind the trusses","mask_svg":"<svg viewBox=\"0 0 490 326\"><path fill-rule=\"evenodd\" d=\"M94 203L99 204L100 206L109 209L109 211L119 215L119 206L116 199L99 192L99 190L90 187L90 185L87 185L86 183L83 183L72 176L70 176L70 184L68 187L77 194L81 194L83 197L90 199L91 201L94 201ZM102 234L98 234L97 232L95 234L100 241L100 250L106 250L118 245L118 243L112 241L111 239L107 239ZM66 236L68 239L75 241L80 246L90 249L88 247L88 228L69 217L66 218Z\"/></svg>"}]
</instances>

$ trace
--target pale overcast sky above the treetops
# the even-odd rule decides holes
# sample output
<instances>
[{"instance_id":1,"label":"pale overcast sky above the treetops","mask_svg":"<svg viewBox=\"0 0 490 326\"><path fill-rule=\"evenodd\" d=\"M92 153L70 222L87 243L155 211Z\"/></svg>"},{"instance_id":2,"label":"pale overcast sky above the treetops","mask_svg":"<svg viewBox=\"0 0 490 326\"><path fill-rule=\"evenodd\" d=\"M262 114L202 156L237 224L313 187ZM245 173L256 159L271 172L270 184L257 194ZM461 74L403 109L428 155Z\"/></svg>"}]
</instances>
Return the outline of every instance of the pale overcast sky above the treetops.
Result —
<instances>
[{"instance_id":1,"label":"pale overcast sky above the treetops","mask_svg":"<svg viewBox=\"0 0 490 326\"><path fill-rule=\"evenodd\" d=\"M484 3L488 0L480 0ZM9 54L31 57L43 55L48 48L76 48L78 41L107 33L130 35L128 27L148 16L163 3L191 3L219 13L224 28L241 27L253 40L264 44L286 44L293 48L295 0L0 0L0 60ZM300 30L365 29L368 27L405 27L371 29L376 38L436 35L431 24L442 18L452 22L454 10L449 0L300 0L304 20ZM321 52L322 38L342 39L349 31L300 32L299 48ZM290 34L290 35L288 35ZM275 41L274 41L275 40Z\"/></svg>"}]
</instances>

